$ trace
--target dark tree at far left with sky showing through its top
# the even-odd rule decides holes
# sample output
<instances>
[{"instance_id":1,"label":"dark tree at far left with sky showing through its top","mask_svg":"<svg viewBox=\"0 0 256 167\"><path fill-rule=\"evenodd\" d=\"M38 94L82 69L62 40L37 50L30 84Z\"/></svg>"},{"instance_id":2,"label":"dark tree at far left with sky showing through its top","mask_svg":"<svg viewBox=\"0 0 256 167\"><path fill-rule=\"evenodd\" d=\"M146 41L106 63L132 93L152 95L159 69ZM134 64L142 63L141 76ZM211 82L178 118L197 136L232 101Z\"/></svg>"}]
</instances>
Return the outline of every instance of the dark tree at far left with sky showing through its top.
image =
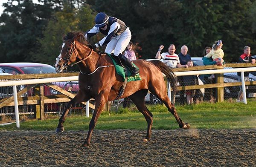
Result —
<instances>
[{"instance_id":1,"label":"dark tree at far left with sky showing through its top","mask_svg":"<svg viewBox=\"0 0 256 167\"><path fill-rule=\"evenodd\" d=\"M37 38L42 37L42 29L51 13L58 10L55 3L44 0L44 5L32 0L17 0L13 5L8 0L0 16L0 58L2 62L33 61L32 53L39 48Z\"/></svg>"}]
</instances>

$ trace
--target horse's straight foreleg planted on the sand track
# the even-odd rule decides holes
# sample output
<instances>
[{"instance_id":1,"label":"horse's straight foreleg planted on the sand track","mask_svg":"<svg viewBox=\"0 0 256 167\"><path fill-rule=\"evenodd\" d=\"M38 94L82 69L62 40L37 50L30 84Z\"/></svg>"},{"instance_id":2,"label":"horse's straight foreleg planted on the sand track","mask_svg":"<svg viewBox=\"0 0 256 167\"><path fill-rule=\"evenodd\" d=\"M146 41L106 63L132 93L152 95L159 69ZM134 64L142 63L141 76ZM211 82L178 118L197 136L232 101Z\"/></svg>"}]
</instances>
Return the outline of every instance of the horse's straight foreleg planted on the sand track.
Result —
<instances>
[{"instance_id":1,"label":"horse's straight foreleg planted on the sand track","mask_svg":"<svg viewBox=\"0 0 256 167\"><path fill-rule=\"evenodd\" d=\"M84 144L82 145L82 147L88 146L90 144L90 140L91 140L91 137L92 137L92 134L93 134L94 127L96 126L99 115L102 112L102 108L104 107L104 105L107 102L106 98L103 97L103 96L101 98L96 98L95 100L96 100L95 101L95 109L94 109L93 116L92 116L92 119L91 119L90 124L89 124L89 130L88 130L87 138L84 141Z\"/></svg>"}]
</instances>

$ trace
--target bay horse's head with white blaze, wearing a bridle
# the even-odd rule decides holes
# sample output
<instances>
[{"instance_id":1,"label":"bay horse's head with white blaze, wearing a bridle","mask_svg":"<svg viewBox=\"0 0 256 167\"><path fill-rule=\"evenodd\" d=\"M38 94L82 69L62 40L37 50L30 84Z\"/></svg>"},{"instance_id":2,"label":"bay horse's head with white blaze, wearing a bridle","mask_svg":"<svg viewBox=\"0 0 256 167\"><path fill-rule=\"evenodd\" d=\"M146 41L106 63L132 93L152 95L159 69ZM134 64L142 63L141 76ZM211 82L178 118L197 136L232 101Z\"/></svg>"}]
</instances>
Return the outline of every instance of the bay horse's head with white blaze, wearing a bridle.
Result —
<instances>
[{"instance_id":1,"label":"bay horse's head with white blaze, wearing a bridle","mask_svg":"<svg viewBox=\"0 0 256 167\"><path fill-rule=\"evenodd\" d=\"M63 72L67 70L67 66L74 64L77 59L80 59L77 52L76 43L85 43L84 33L80 31L69 32L67 35L63 36L63 42L61 47L60 55L56 58L56 63L54 65L56 72Z\"/></svg>"}]
</instances>

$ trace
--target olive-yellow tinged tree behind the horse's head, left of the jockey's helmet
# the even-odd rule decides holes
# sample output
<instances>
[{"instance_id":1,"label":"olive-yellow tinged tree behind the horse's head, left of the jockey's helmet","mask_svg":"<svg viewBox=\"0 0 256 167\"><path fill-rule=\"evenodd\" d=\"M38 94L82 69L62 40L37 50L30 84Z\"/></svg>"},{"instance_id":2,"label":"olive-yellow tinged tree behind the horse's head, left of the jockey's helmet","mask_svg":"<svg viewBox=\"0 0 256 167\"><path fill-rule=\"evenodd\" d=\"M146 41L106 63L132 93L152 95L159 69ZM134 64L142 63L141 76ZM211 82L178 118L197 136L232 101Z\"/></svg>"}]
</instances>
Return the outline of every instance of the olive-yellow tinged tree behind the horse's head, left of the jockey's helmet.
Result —
<instances>
[{"instance_id":1,"label":"olive-yellow tinged tree behind the horse's head, left of the jockey's helmet","mask_svg":"<svg viewBox=\"0 0 256 167\"><path fill-rule=\"evenodd\" d=\"M56 12L49 21L43 32L44 37L39 39L41 50L33 58L39 62L53 64L59 55L62 34L90 29L94 25L94 16L95 13L88 5L76 9L69 3L64 3L63 10Z\"/></svg>"}]
</instances>

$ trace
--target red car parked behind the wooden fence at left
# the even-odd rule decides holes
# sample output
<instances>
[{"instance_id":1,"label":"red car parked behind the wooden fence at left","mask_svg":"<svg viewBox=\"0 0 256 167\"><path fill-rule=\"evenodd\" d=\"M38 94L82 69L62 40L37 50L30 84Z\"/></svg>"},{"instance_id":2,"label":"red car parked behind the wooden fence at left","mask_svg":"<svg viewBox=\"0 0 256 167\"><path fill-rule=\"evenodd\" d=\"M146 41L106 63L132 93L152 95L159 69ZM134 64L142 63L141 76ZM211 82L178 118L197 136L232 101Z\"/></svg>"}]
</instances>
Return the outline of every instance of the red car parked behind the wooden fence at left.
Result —
<instances>
[{"instance_id":1,"label":"red car parked behind the wooden fence at left","mask_svg":"<svg viewBox=\"0 0 256 167\"><path fill-rule=\"evenodd\" d=\"M0 63L0 68L9 74L46 74L46 73L56 73L55 68L48 64L42 63ZM78 81L77 82L53 82L53 84L65 89L69 92L76 93L79 90ZM54 89L50 89L48 86L44 86L44 95L56 95L59 92ZM33 95L33 91L29 91L28 96ZM55 107L54 107L55 106ZM57 110L55 104L46 105L48 110ZM49 109L49 107L53 109Z\"/></svg>"}]
</instances>

